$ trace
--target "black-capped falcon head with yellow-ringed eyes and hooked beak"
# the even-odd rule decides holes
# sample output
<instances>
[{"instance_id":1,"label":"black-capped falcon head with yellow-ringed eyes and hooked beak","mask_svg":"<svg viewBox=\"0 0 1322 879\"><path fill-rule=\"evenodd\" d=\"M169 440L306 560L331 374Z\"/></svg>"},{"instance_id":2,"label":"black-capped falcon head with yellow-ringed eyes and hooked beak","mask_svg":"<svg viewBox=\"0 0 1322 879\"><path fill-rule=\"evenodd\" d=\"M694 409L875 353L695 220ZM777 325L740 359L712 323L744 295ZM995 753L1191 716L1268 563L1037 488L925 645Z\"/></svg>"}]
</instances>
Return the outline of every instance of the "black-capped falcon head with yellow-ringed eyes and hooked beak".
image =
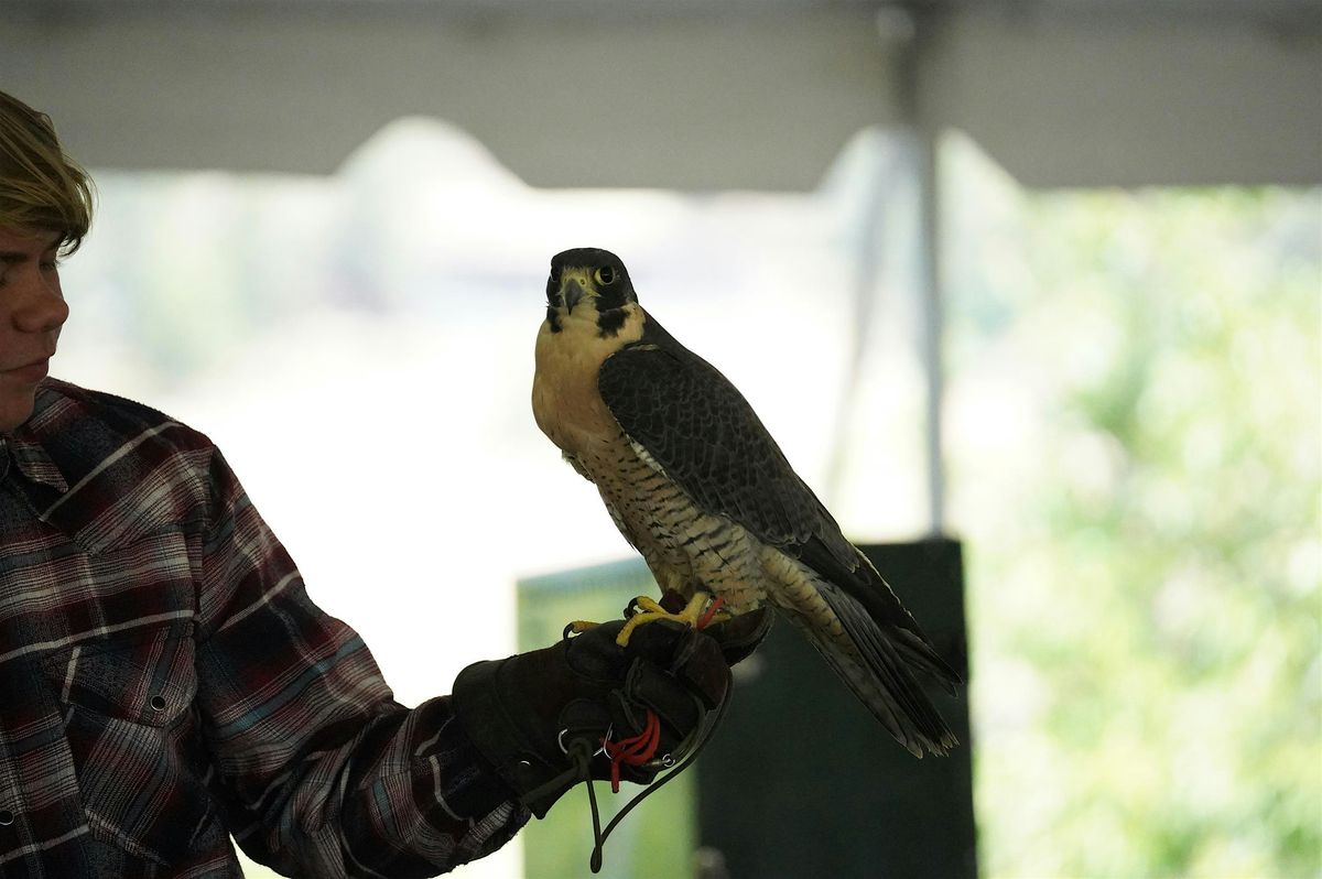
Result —
<instances>
[{"instance_id":1,"label":"black-capped falcon head with yellow-ringed eyes and hooked beak","mask_svg":"<svg viewBox=\"0 0 1322 879\"><path fill-rule=\"evenodd\" d=\"M561 332L570 321L590 320L598 336L615 336L639 313L629 270L598 247L576 247L551 258L546 279L546 321Z\"/></svg>"}]
</instances>

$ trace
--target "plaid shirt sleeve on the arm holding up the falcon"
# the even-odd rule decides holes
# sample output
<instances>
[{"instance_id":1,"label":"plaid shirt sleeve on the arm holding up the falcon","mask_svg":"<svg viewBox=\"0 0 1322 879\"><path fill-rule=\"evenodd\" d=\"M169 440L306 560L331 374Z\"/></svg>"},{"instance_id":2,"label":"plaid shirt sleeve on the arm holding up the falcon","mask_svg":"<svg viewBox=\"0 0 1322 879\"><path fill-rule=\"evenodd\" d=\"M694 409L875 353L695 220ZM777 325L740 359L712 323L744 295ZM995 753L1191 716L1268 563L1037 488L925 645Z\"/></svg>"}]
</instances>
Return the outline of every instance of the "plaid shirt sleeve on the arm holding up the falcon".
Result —
<instances>
[{"instance_id":1,"label":"plaid shirt sleeve on the arm holding up the falcon","mask_svg":"<svg viewBox=\"0 0 1322 879\"><path fill-rule=\"evenodd\" d=\"M431 876L529 813L449 697L407 710L362 638L317 608L219 452L202 537L198 707L210 786L243 850L291 875Z\"/></svg>"}]
</instances>

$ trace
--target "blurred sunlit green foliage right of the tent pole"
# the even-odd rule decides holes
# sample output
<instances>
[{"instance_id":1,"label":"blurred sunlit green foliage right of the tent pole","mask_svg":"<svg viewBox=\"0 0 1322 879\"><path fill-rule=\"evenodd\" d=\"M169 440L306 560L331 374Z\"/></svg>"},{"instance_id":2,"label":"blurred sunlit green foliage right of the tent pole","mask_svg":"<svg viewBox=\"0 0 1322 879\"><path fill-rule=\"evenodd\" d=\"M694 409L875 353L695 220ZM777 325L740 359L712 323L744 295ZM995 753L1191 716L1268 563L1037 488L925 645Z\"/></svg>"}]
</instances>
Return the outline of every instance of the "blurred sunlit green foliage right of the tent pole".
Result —
<instances>
[{"instance_id":1,"label":"blurred sunlit green foliage right of the tent pole","mask_svg":"<svg viewBox=\"0 0 1322 879\"><path fill-rule=\"evenodd\" d=\"M1322 874L1322 193L951 157L984 872Z\"/></svg>"}]
</instances>

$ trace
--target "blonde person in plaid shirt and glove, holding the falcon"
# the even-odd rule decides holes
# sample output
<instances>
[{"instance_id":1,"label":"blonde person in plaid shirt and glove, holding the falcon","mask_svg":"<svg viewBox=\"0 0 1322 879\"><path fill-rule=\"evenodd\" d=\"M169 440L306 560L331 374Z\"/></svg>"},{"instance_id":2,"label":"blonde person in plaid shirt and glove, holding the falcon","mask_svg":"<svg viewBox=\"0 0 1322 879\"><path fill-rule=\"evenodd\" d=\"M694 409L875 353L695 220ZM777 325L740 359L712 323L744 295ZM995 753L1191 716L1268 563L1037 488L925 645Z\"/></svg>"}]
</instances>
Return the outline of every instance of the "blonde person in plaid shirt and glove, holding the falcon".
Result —
<instances>
[{"instance_id":1,"label":"blonde person in plaid shirt and glove, holding the falcon","mask_svg":"<svg viewBox=\"0 0 1322 879\"><path fill-rule=\"evenodd\" d=\"M397 703L204 434L48 377L91 217L0 93L0 875L235 876L230 837L291 876L436 875L710 734L764 627L615 620Z\"/></svg>"}]
</instances>

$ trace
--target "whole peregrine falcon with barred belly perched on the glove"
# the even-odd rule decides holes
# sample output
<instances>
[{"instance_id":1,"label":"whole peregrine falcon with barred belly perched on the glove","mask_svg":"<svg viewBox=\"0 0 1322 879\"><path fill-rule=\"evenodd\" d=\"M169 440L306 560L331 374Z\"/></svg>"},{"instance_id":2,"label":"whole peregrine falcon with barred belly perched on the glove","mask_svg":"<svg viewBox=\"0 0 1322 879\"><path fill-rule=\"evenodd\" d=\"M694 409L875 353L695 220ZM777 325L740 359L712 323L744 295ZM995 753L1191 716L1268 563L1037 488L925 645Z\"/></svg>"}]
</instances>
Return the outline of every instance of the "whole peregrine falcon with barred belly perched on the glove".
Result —
<instances>
[{"instance_id":1,"label":"whole peregrine falcon with barred belly perched on the glove","mask_svg":"<svg viewBox=\"0 0 1322 879\"><path fill-rule=\"evenodd\" d=\"M546 300L537 424L596 485L662 592L693 599L685 619L706 593L734 615L769 604L911 753L953 747L914 671L952 694L960 677L743 395L642 309L624 263L599 248L558 254ZM637 603L641 617L665 615Z\"/></svg>"}]
</instances>

